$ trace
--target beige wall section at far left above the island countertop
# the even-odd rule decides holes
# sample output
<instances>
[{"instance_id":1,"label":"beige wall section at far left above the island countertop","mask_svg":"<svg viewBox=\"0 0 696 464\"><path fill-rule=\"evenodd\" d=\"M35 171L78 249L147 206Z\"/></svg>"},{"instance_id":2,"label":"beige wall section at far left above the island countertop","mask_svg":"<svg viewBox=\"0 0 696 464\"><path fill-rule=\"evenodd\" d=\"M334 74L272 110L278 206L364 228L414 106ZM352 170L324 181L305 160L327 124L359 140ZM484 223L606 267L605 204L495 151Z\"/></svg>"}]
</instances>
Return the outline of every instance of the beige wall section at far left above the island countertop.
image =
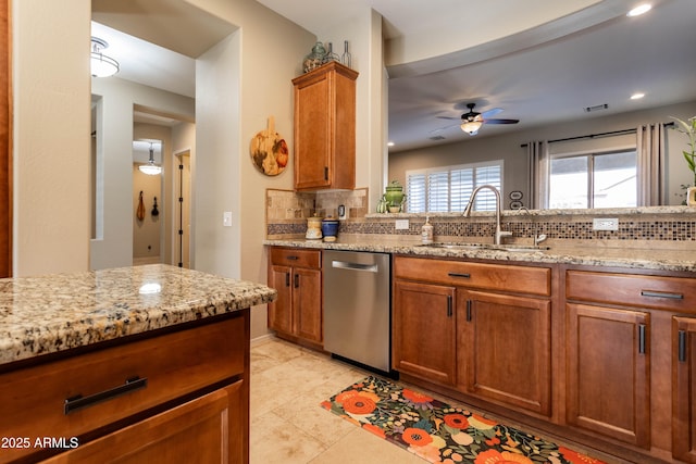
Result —
<instances>
[{"instance_id":1,"label":"beige wall section at far left above the island countertop","mask_svg":"<svg viewBox=\"0 0 696 464\"><path fill-rule=\"evenodd\" d=\"M89 265L89 0L14 0L13 275Z\"/></svg>"}]
</instances>

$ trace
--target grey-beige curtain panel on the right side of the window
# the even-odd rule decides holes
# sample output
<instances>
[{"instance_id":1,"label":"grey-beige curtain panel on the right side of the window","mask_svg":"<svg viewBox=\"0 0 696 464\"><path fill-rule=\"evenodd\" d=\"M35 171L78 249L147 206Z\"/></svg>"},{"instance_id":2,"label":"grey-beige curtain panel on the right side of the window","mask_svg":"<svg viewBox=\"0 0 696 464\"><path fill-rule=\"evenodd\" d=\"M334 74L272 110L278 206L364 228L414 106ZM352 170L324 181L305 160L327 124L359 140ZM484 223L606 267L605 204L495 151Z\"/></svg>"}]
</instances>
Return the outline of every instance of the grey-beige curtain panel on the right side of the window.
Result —
<instances>
[{"instance_id":1,"label":"grey-beige curtain panel on the right side of the window","mask_svg":"<svg viewBox=\"0 0 696 464\"><path fill-rule=\"evenodd\" d=\"M664 124L636 128L638 206L664 204Z\"/></svg>"}]
</instances>

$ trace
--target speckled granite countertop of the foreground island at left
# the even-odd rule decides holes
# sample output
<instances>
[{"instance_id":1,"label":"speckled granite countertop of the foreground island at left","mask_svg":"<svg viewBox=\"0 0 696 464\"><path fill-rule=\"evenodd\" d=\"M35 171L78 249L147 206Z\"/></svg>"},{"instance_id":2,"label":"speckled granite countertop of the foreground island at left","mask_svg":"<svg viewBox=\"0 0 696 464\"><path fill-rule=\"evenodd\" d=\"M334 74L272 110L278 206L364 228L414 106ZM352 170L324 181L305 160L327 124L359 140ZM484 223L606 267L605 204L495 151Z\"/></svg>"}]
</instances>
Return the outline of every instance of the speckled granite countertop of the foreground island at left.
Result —
<instances>
[{"instance_id":1,"label":"speckled granite countertop of the foreground island at left","mask_svg":"<svg viewBox=\"0 0 696 464\"><path fill-rule=\"evenodd\" d=\"M229 313L264 285L164 264L0 279L0 364Z\"/></svg>"}]
</instances>

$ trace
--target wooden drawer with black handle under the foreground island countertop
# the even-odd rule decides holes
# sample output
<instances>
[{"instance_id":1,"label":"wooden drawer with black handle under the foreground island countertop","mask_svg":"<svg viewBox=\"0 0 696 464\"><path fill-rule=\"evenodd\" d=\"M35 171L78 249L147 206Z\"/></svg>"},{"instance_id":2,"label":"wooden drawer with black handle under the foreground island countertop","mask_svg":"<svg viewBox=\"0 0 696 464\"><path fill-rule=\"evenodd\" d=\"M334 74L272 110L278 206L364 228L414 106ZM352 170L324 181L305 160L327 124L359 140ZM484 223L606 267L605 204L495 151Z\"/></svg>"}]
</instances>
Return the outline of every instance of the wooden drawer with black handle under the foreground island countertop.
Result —
<instances>
[{"instance_id":1,"label":"wooden drawer with black handle under the foreground island countertop","mask_svg":"<svg viewBox=\"0 0 696 464\"><path fill-rule=\"evenodd\" d=\"M0 430L28 438L30 446L2 450L0 462L40 451L37 438L70 440L240 375L247 343L239 316L8 372L0 376ZM147 383L124 387L133 378ZM102 392L104 398L66 412L67 399Z\"/></svg>"}]
</instances>

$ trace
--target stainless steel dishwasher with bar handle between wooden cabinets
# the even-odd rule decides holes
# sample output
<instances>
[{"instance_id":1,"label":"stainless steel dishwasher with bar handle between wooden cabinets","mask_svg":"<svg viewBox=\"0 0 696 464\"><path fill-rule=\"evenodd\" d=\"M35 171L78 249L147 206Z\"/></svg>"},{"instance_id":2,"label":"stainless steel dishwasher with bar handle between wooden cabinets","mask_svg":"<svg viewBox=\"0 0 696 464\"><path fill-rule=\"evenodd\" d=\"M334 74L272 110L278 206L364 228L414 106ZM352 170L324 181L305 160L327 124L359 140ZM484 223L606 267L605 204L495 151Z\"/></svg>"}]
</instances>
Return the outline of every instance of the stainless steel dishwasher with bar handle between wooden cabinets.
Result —
<instances>
[{"instance_id":1,"label":"stainless steel dishwasher with bar handle between wooden cabinets","mask_svg":"<svg viewBox=\"0 0 696 464\"><path fill-rule=\"evenodd\" d=\"M389 373L389 254L325 250L324 350Z\"/></svg>"}]
</instances>

